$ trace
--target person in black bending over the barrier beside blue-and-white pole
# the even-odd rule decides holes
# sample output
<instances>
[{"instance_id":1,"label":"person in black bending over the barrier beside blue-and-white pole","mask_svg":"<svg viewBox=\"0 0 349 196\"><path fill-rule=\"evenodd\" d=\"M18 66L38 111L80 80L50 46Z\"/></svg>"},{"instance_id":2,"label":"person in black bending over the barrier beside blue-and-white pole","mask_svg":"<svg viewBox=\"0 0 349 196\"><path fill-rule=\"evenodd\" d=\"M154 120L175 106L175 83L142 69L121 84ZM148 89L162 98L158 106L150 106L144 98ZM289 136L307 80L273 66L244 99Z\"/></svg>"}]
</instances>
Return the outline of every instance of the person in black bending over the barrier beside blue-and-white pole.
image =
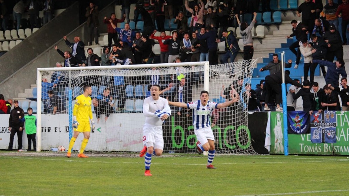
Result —
<instances>
[{"instance_id":1,"label":"person in black bending over the barrier beside blue-and-white pole","mask_svg":"<svg viewBox=\"0 0 349 196\"><path fill-rule=\"evenodd\" d=\"M302 84L299 84L298 82L296 82L290 78L290 71L289 70L285 70L284 76L285 76L285 84L292 84L292 85L303 88ZM282 107L280 107L280 104L282 102L281 84L282 84L281 71L276 72L274 74L267 75L265 77L265 85L263 86L263 93L266 93L264 110L270 110L267 103L270 102L270 97L272 97L272 95L274 94L275 95L275 103L276 103L276 111L282 111Z\"/></svg>"}]
</instances>

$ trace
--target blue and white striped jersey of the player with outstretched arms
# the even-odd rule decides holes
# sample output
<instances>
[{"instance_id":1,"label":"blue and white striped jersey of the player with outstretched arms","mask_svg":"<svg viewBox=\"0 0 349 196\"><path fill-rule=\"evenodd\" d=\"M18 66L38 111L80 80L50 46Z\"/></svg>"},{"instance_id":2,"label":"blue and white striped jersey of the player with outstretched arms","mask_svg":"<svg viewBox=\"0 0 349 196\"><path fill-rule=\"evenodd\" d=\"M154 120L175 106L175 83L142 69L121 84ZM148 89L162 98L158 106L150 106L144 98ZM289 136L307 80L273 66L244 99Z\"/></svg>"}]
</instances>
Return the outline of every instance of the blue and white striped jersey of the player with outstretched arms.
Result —
<instances>
[{"instance_id":1,"label":"blue and white striped jersey of the player with outstretched arms","mask_svg":"<svg viewBox=\"0 0 349 196\"><path fill-rule=\"evenodd\" d=\"M208 101L206 106L201 105L201 100L194 103L187 103L188 109L193 109L193 126L194 130L202 129L204 127L211 127L211 114L214 109L217 109L218 103Z\"/></svg>"}]
</instances>

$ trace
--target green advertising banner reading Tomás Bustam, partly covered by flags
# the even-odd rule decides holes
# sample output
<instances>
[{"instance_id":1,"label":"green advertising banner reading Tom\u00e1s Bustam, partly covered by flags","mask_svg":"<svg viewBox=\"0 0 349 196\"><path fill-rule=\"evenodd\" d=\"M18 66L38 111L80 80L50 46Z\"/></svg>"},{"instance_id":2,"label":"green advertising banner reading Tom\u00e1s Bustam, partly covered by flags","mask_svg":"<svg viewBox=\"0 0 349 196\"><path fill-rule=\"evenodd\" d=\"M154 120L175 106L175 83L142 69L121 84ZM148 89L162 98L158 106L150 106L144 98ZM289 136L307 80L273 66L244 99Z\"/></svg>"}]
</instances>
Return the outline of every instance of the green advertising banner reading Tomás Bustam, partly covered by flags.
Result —
<instances>
[{"instance_id":1,"label":"green advertising banner reading Tom\u00e1s Bustam, partly covered by flags","mask_svg":"<svg viewBox=\"0 0 349 196\"><path fill-rule=\"evenodd\" d=\"M336 111L335 115L336 143L312 143L311 134L288 134L289 153L349 155L349 112ZM283 115L281 112L270 112L270 153L284 153Z\"/></svg>"}]
</instances>

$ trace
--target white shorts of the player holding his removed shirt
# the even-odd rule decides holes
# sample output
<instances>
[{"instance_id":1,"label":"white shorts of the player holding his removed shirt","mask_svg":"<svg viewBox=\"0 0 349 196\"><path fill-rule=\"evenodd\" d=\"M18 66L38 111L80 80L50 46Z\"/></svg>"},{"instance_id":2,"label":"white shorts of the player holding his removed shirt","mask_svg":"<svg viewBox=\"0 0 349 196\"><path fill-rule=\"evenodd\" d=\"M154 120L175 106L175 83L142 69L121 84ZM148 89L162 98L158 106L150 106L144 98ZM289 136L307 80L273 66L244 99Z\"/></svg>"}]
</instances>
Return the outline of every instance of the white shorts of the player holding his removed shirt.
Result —
<instances>
[{"instance_id":1,"label":"white shorts of the player holding his removed shirt","mask_svg":"<svg viewBox=\"0 0 349 196\"><path fill-rule=\"evenodd\" d=\"M164 138L162 137L162 127L144 124L143 145L146 145L147 142L153 143L154 149L164 150Z\"/></svg>"}]
</instances>

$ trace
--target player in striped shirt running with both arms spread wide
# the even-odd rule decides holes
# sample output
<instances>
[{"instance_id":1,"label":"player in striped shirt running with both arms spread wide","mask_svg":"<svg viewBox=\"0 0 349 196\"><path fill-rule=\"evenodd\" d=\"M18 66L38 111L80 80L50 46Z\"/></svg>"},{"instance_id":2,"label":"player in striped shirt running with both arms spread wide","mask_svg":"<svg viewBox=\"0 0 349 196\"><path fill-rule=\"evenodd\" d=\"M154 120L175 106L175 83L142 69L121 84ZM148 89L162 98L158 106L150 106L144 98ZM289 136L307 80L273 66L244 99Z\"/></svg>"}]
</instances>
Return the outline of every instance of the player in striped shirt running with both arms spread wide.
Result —
<instances>
[{"instance_id":1,"label":"player in striped shirt running with both arms spread wide","mask_svg":"<svg viewBox=\"0 0 349 196\"><path fill-rule=\"evenodd\" d=\"M184 107L187 109L193 109L193 126L194 133L198 142L196 147L199 152L208 151L207 168L215 169L212 165L213 158L215 157L215 137L211 129L211 114L214 109L227 107L239 100L239 96L231 97L231 100L218 104L208 100L208 91L201 91L200 100L194 103L180 103L169 101L170 105L177 107Z\"/></svg>"}]
</instances>

